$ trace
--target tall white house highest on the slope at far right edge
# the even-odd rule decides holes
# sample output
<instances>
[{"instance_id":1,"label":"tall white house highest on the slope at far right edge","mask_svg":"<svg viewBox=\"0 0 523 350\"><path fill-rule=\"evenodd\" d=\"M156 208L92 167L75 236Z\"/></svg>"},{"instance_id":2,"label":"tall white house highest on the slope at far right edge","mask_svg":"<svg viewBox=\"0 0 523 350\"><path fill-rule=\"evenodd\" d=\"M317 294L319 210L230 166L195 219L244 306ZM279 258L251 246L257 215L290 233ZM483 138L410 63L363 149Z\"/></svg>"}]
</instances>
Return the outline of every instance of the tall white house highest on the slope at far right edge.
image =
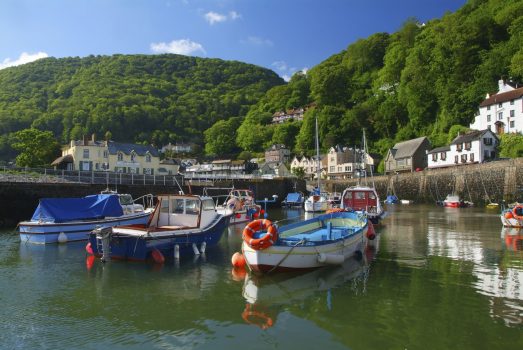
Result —
<instances>
[{"instance_id":1,"label":"tall white house highest on the slope at far right edge","mask_svg":"<svg viewBox=\"0 0 523 350\"><path fill-rule=\"evenodd\" d=\"M523 87L499 80L498 92L487 94L470 124L474 130L490 129L497 135L523 132Z\"/></svg>"}]
</instances>

